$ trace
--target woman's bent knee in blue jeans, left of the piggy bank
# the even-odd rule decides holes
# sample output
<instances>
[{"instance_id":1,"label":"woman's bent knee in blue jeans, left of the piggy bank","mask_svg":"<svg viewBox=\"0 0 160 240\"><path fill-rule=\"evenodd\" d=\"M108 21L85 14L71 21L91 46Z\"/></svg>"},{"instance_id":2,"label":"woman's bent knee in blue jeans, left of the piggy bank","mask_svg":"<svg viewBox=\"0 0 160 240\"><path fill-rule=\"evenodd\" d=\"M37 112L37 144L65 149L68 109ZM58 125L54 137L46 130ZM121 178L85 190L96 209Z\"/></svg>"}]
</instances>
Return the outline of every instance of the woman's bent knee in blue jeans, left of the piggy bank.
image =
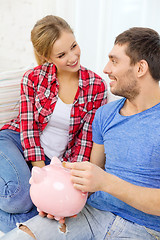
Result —
<instances>
[{"instance_id":1,"label":"woman's bent knee in blue jeans, left of the piggy bank","mask_svg":"<svg viewBox=\"0 0 160 240\"><path fill-rule=\"evenodd\" d=\"M5 146L0 141L0 209L7 212L27 212L30 199L30 170L14 142Z\"/></svg>"}]
</instances>

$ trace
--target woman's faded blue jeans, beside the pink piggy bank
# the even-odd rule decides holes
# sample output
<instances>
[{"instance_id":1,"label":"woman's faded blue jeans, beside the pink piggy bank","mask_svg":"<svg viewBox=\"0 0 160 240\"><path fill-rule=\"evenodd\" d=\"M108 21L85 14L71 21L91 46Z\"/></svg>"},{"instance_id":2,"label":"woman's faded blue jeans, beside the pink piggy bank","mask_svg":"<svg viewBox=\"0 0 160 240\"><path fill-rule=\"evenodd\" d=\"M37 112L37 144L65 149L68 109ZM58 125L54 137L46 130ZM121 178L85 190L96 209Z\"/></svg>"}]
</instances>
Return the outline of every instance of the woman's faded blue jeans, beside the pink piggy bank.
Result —
<instances>
[{"instance_id":1,"label":"woman's faded blue jeans, beside the pink piggy bank","mask_svg":"<svg viewBox=\"0 0 160 240\"><path fill-rule=\"evenodd\" d=\"M38 214L29 194L30 168L31 163L27 164L24 160L20 134L12 130L0 131L0 231L2 232L6 233L15 228L17 222L24 222Z\"/></svg>"}]
</instances>

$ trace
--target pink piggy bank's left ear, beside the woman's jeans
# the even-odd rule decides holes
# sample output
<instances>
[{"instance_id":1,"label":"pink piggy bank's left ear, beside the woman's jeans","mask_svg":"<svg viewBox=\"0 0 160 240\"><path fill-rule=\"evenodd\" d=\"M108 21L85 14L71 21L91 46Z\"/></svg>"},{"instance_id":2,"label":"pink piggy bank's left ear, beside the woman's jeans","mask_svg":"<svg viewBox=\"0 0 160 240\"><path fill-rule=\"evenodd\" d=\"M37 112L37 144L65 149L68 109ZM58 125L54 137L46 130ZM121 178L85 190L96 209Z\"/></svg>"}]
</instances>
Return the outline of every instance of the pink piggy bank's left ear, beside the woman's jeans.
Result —
<instances>
[{"instance_id":1,"label":"pink piggy bank's left ear, beside the woman's jeans","mask_svg":"<svg viewBox=\"0 0 160 240\"><path fill-rule=\"evenodd\" d=\"M45 178L46 172L43 168L33 167L31 172L30 184L40 183Z\"/></svg>"}]
</instances>

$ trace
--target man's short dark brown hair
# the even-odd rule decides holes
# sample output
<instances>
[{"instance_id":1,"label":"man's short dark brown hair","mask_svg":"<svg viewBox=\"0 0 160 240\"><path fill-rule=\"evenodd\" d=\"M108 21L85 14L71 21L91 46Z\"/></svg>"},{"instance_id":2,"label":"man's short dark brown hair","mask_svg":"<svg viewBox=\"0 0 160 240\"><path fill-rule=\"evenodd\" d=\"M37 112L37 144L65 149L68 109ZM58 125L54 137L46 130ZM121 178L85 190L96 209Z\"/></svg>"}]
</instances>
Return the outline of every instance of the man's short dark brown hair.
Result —
<instances>
[{"instance_id":1,"label":"man's short dark brown hair","mask_svg":"<svg viewBox=\"0 0 160 240\"><path fill-rule=\"evenodd\" d=\"M133 27L119 34L114 44L127 44L126 54L131 64L147 61L153 79L160 80L160 36L150 28Z\"/></svg>"}]
</instances>

